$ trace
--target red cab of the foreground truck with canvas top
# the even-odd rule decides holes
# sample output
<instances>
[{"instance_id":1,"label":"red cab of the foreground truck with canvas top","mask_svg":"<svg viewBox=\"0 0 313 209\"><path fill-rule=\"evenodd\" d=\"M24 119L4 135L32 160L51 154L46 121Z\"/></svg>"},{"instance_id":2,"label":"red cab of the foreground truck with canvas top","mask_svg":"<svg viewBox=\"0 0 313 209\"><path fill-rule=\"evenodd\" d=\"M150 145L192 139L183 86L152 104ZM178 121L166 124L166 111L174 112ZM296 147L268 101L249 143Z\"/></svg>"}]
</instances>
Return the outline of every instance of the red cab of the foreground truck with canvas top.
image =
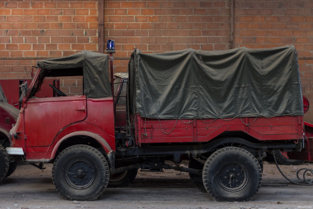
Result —
<instances>
[{"instance_id":1,"label":"red cab of the foreground truck with canvas top","mask_svg":"<svg viewBox=\"0 0 313 209\"><path fill-rule=\"evenodd\" d=\"M12 147L18 149L8 152L23 153L29 163L43 163L74 144L92 144L104 153L115 149L113 99L105 71L108 58L95 54L83 51L72 55L70 62L63 58L38 62L33 81L22 87L23 105L11 131ZM45 78L69 76L83 77L81 93L67 96L50 85L57 97L35 97ZM103 111L103 107L107 108Z\"/></svg>"}]
</instances>

